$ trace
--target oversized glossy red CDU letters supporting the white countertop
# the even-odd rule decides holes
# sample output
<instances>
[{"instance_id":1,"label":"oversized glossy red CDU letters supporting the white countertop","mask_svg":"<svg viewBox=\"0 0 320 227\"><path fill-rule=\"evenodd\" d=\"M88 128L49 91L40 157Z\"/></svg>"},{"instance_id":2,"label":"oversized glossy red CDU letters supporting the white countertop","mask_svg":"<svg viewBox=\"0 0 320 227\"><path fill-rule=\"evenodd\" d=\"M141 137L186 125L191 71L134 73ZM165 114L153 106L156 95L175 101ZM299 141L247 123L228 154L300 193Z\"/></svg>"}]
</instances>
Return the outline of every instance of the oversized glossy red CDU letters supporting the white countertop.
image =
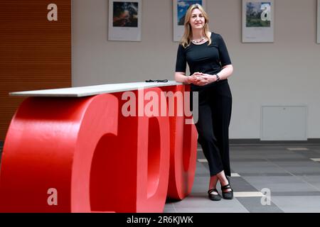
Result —
<instances>
[{"instance_id":1,"label":"oversized glossy red CDU letters supporting the white countertop","mask_svg":"<svg viewBox=\"0 0 320 227\"><path fill-rule=\"evenodd\" d=\"M122 114L124 92L26 99L6 135L0 211L161 212L166 196L183 199L193 183L196 134L183 117L145 113L166 99L163 91L132 92L136 116Z\"/></svg>"}]
</instances>

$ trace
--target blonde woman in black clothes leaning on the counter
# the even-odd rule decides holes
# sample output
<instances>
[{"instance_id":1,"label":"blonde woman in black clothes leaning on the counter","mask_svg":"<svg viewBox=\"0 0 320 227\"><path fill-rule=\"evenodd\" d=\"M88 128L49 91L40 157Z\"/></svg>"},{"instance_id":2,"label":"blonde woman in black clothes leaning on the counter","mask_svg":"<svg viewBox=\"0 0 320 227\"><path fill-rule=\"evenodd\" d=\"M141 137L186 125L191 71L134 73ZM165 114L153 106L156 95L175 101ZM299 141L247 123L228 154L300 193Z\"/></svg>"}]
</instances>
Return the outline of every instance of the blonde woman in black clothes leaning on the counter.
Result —
<instances>
[{"instance_id":1,"label":"blonde woman in black clothes leaning on the counter","mask_svg":"<svg viewBox=\"0 0 320 227\"><path fill-rule=\"evenodd\" d=\"M198 142L208 160L210 183L208 197L220 200L216 189L220 181L224 199L233 199L229 178L229 123L232 96L228 77L233 73L228 50L221 35L211 33L208 14L199 4L186 12L184 34L178 46L176 82L191 84L191 91L199 92ZM186 76L188 63L191 76Z\"/></svg>"}]
</instances>

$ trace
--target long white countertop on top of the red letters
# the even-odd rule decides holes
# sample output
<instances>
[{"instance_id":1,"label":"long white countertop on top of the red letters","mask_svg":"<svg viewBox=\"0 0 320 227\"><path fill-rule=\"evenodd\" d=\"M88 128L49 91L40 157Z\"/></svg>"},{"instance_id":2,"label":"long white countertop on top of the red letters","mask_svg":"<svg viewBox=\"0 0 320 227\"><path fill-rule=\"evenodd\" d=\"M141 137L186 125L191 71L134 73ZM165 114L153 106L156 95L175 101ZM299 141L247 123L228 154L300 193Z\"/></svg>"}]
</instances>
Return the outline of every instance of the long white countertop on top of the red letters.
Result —
<instances>
[{"instance_id":1,"label":"long white countertop on top of the red letters","mask_svg":"<svg viewBox=\"0 0 320 227\"><path fill-rule=\"evenodd\" d=\"M181 82L136 82L122 84L102 84L86 87L70 87L61 89L46 89L28 92L10 92L10 96L42 96L42 97L83 97L96 94L133 91L150 87L165 87L181 85Z\"/></svg>"}]
</instances>

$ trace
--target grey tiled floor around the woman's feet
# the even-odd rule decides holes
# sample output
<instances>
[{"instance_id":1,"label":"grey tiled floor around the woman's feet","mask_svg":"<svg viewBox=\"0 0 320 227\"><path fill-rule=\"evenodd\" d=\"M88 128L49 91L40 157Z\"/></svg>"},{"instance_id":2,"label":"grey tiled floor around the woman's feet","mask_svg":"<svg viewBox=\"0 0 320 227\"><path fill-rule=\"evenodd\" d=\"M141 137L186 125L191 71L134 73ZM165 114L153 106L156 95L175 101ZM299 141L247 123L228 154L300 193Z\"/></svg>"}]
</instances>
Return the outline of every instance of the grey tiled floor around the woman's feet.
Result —
<instances>
[{"instance_id":1,"label":"grey tiled floor around the woman's feet","mask_svg":"<svg viewBox=\"0 0 320 227\"><path fill-rule=\"evenodd\" d=\"M208 163L200 148L191 194L167 201L164 212L320 212L320 144L231 145L230 158L233 200L208 199Z\"/></svg>"}]
</instances>

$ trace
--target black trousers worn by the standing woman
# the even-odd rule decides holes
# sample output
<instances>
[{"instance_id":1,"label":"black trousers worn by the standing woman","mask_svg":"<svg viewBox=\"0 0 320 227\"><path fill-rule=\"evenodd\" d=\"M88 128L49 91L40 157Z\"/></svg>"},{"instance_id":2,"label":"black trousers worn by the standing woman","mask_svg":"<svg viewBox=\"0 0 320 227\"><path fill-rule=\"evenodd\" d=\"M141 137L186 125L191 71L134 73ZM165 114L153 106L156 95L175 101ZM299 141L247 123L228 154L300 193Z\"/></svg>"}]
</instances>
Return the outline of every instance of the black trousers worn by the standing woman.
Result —
<instances>
[{"instance_id":1,"label":"black trousers worn by the standing woman","mask_svg":"<svg viewBox=\"0 0 320 227\"><path fill-rule=\"evenodd\" d=\"M198 98L198 142L208 160L210 177L223 170L225 175L230 176L229 125L232 95L228 81L202 89Z\"/></svg>"}]
</instances>

